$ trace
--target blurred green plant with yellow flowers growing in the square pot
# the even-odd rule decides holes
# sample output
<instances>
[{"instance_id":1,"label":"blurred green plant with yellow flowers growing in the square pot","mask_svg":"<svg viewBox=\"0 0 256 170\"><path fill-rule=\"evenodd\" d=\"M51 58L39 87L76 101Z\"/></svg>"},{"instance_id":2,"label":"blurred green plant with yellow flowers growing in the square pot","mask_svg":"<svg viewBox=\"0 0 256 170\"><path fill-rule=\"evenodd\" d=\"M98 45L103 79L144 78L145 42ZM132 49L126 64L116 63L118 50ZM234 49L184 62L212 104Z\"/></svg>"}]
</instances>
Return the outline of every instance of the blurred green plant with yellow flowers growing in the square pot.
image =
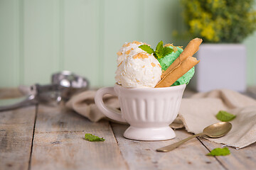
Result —
<instances>
[{"instance_id":1,"label":"blurred green plant with yellow flowers growing in the square pot","mask_svg":"<svg viewBox=\"0 0 256 170\"><path fill-rule=\"evenodd\" d=\"M193 36L205 42L242 42L256 30L254 1L182 0Z\"/></svg>"}]
</instances>

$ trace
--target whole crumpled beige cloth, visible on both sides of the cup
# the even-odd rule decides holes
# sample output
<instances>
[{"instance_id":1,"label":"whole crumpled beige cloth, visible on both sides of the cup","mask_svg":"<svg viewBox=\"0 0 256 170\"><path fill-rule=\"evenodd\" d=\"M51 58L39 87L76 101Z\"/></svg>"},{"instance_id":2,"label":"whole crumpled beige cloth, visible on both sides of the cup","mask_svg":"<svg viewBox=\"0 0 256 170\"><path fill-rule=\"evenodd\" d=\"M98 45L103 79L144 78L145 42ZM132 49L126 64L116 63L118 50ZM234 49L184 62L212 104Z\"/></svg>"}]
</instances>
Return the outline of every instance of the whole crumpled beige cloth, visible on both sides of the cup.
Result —
<instances>
[{"instance_id":1,"label":"whole crumpled beige cloth, visible on both sides of the cup","mask_svg":"<svg viewBox=\"0 0 256 170\"><path fill-rule=\"evenodd\" d=\"M96 91L85 91L73 96L66 106L97 122L105 118L105 115L95 106L95 93ZM103 100L107 106L119 108L117 97L106 95ZM178 117L170 126L171 128L185 127L188 132L199 133L208 125L220 122L215 118L218 111L228 111L236 115L236 118L230 122L233 128L224 137L206 139L237 149L256 142L256 101L228 89L214 90L195 94L191 98L183 98Z\"/></svg>"}]
</instances>

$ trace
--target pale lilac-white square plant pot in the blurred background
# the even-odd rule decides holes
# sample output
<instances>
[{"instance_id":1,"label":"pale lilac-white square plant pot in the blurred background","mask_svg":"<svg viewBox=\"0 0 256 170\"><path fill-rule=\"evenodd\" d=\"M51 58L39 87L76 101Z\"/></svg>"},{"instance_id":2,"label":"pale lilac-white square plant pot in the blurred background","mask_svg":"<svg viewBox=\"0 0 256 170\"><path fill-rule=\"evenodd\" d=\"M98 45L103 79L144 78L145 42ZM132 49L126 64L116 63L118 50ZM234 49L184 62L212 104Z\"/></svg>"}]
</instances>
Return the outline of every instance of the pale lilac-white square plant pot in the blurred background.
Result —
<instances>
[{"instance_id":1,"label":"pale lilac-white square plant pot in the blurred background","mask_svg":"<svg viewBox=\"0 0 256 170\"><path fill-rule=\"evenodd\" d=\"M196 53L196 72L189 86L200 92L213 89L246 90L246 49L242 44L203 44Z\"/></svg>"}]
</instances>

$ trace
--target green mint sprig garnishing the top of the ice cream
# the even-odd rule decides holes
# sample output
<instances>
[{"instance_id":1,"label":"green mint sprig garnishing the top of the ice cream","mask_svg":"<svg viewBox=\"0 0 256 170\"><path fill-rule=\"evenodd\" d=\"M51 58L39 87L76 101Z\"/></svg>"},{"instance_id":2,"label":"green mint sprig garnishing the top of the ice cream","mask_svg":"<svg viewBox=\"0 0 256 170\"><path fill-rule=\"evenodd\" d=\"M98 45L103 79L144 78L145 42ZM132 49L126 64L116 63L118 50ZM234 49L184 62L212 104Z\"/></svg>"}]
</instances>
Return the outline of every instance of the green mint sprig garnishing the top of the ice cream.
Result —
<instances>
[{"instance_id":1,"label":"green mint sprig garnishing the top of the ice cream","mask_svg":"<svg viewBox=\"0 0 256 170\"><path fill-rule=\"evenodd\" d=\"M165 57L166 55L169 55L171 52L174 51L170 47L164 47L163 44L164 44L164 42L160 41L156 45L156 50L152 49L149 45L140 45L139 48L149 54L153 53L153 55L154 55L154 57L156 57L156 59L161 59L162 57Z\"/></svg>"}]
</instances>

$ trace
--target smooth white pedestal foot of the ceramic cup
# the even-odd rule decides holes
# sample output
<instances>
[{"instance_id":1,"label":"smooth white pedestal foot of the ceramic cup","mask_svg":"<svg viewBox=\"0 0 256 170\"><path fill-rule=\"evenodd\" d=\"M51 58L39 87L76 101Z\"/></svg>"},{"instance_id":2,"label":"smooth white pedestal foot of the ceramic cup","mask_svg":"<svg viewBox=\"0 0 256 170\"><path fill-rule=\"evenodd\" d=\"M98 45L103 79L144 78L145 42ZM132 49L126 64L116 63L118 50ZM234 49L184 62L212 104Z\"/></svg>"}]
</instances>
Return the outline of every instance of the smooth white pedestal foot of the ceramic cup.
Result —
<instances>
[{"instance_id":1,"label":"smooth white pedestal foot of the ceramic cup","mask_svg":"<svg viewBox=\"0 0 256 170\"><path fill-rule=\"evenodd\" d=\"M130 126L125 130L124 137L130 140L171 140L176 135L169 126L161 128L137 128Z\"/></svg>"}]
</instances>

